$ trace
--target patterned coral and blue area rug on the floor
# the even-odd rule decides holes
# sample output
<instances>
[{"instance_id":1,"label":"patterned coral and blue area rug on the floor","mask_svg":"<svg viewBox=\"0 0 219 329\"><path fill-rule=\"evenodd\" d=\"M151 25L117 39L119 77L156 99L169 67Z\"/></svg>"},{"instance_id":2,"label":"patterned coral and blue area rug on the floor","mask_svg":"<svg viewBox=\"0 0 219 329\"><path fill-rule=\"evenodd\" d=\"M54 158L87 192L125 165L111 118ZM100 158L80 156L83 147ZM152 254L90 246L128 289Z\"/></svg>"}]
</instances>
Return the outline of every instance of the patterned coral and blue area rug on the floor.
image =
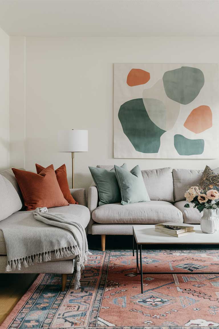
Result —
<instances>
[{"instance_id":1,"label":"patterned coral and blue area rug on the floor","mask_svg":"<svg viewBox=\"0 0 219 329\"><path fill-rule=\"evenodd\" d=\"M6 318L6 328L187 328L219 326L219 250L143 250L140 275L132 251L92 251L73 290L72 275L60 292L60 275L40 274ZM186 274L177 274L185 271Z\"/></svg>"}]
</instances>

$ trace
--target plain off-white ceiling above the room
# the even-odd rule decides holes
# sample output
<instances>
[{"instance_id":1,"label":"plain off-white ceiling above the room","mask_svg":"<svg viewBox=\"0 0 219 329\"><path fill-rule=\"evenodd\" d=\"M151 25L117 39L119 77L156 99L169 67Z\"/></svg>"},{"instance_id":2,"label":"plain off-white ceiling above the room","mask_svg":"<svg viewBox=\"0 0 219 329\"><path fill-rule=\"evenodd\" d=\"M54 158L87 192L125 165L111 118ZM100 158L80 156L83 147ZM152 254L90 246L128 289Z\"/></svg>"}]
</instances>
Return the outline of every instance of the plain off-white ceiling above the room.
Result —
<instances>
[{"instance_id":1,"label":"plain off-white ceiling above the room","mask_svg":"<svg viewBox=\"0 0 219 329\"><path fill-rule=\"evenodd\" d=\"M218 0L0 0L14 36L218 36Z\"/></svg>"}]
</instances>

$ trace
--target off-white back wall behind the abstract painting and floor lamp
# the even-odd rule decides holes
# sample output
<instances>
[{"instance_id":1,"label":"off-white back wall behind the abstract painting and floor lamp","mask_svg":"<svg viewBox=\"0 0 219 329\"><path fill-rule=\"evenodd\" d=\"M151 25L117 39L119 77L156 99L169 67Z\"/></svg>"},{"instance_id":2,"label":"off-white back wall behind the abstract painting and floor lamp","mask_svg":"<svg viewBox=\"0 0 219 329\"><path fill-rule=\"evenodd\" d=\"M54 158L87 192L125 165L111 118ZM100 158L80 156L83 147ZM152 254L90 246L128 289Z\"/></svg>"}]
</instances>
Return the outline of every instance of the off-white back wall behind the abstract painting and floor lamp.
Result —
<instances>
[{"instance_id":1,"label":"off-white back wall behind the abstract painting and floor lamp","mask_svg":"<svg viewBox=\"0 0 219 329\"><path fill-rule=\"evenodd\" d=\"M25 111L21 106L25 168L34 170L35 162L53 163L55 168L66 163L71 182L71 154L57 152L56 135L59 129L73 128L89 131L89 152L75 154L76 187L90 185L88 165L126 162L130 169L136 164L142 169L218 167L217 159L113 159L113 63L218 63L218 41L215 37L20 39L19 54L25 62L20 59L25 66L20 70L24 74L21 84L25 81L20 100L25 100ZM11 117L12 126L17 119ZM23 152L23 144L17 145L18 154L19 147ZM14 152L13 165L20 165Z\"/></svg>"}]
</instances>

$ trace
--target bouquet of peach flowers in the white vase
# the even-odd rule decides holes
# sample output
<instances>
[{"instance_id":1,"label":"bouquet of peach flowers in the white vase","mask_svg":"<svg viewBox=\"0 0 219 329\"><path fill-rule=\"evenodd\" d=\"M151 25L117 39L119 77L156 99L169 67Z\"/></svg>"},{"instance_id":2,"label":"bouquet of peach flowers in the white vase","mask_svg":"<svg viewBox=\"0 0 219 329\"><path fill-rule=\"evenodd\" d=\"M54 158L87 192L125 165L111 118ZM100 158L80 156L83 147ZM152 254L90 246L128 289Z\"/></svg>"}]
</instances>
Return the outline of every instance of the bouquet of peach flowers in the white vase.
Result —
<instances>
[{"instance_id":1,"label":"bouquet of peach flowers in the white vase","mask_svg":"<svg viewBox=\"0 0 219 329\"><path fill-rule=\"evenodd\" d=\"M193 208L197 208L200 213L203 209L217 209L219 208L219 192L212 188L212 185L205 190L192 186L185 193L186 201L194 203ZM184 207L189 208L190 205L186 203Z\"/></svg>"}]
</instances>

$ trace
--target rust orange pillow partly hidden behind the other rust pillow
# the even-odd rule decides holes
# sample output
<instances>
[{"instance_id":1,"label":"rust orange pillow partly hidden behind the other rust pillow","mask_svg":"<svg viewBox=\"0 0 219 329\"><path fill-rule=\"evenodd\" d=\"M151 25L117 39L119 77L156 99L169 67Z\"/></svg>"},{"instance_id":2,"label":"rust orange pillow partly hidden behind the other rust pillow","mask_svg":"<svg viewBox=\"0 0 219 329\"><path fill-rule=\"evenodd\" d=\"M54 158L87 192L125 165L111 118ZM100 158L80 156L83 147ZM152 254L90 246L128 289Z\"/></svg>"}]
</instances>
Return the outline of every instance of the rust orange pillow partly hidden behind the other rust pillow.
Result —
<instances>
[{"instance_id":1,"label":"rust orange pillow partly hidden behind the other rust pillow","mask_svg":"<svg viewBox=\"0 0 219 329\"><path fill-rule=\"evenodd\" d=\"M42 167L39 164L35 164L35 165L36 165L37 174L39 174L42 170L45 169L44 167ZM54 169L54 166L53 166L53 164L51 164L47 168ZM68 201L68 203L78 204L78 202L75 201L75 199L73 198L73 196L71 195L70 190L69 190L65 164L61 165L61 167L59 167L58 169L55 170L55 175L56 175L56 178L58 181L58 185L64 195L64 198Z\"/></svg>"}]
</instances>

